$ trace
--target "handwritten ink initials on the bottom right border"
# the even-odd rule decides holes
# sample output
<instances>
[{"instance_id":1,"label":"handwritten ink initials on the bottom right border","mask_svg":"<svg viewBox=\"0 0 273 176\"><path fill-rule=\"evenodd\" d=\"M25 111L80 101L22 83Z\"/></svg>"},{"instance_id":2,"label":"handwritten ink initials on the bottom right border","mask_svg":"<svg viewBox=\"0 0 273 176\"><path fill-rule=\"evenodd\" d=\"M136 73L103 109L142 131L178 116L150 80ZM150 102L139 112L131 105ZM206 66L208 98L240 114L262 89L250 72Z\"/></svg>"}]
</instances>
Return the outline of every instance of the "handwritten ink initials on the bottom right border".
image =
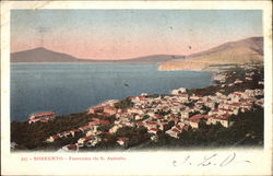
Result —
<instances>
[{"instance_id":1,"label":"handwritten ink initials on the bottom right border","mask_svg":"<svg viewBox=\"0 0 273 176\"><path fill-rule=\"evenodd\" d=\"M193 166L219 166L224 167L230 164L238 164L238 163L251 163L248 160L236 160L236 153L233 152L232 154L219 156L217 153L213 153L209 156L204 156L204 159L193 159L191 155L187 155L181 161L174 160L173 166L179 165L193 165Z\"/></svg>"}]
</instances>

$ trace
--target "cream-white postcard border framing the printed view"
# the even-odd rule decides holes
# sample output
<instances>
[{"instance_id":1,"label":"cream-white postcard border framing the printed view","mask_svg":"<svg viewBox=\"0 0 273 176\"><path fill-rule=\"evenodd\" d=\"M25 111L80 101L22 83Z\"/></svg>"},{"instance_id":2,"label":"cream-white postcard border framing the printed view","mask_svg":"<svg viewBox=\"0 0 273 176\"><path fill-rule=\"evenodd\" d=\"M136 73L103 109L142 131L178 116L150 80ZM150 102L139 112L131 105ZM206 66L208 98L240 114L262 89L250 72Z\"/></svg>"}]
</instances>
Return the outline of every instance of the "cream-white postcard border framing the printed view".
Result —
<instances>
[{"instance_id":1,"label":"cream-white postcard border framing the printed view","mask_svg":"<svg viewBox=\"0 0 273 176\"><path fill-rule=\"evenodd\" d=\"M264 149L222 149L145 152L10 153L10 11L12 9L192 9L262 10L264 33ZM271 175L272 173L272 12L270 1L5 1L1 2L1 172L3 175ZM271 23L270 23L271 22ZM232 157L250 161L237 165L197 166L217 154L217 162ZM191 155L191 165L183 160ZM35 157L66 157L55 162ZM124 157L107 161L107 157ZM22 162L27 157L27 162ZM70 161L91 157L92 161ZM95 160L97 157L98 160ZM200 159L201 157L201 159ZM32 159L32 161L31 161ZM217 164L218 164L217 163Z\"/></svg>"}]
</instances>

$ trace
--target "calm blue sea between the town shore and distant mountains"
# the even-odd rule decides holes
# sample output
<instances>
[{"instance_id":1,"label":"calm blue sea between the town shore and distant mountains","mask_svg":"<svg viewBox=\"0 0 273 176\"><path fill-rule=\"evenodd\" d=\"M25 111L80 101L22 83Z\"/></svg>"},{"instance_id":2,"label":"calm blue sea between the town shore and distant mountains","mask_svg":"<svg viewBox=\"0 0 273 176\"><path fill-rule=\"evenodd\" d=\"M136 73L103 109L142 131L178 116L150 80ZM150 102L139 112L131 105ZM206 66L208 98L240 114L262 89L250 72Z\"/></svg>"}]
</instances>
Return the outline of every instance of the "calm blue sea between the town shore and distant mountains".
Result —
<instances>
[{"instance_id":1,"label":"calm blue sea between the town shore and distant mountains","mask_svg":"<svg viewBox=\"0 0 273 176\"><path fill-rule=\"evenodd\" d=\"M106 99L167 94L212 84L211 72L157 71L157 64L11 63L11 120L37 112L84 112Z\"/></svg>"}]
</instances>

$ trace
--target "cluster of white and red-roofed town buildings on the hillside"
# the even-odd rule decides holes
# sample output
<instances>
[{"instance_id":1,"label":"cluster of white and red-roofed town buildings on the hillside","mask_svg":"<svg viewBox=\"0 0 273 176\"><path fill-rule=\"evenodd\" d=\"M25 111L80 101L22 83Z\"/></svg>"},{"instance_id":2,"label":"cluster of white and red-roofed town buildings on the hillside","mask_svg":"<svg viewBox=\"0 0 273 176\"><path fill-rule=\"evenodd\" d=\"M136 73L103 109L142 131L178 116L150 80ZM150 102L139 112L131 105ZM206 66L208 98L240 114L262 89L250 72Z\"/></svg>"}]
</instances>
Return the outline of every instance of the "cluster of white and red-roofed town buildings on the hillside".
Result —
<instances>
[{"instance_id":1,"label":"cluster of white and red-roofed town buildings on the hillside","mask_svg":"<svg viewBox=\"0 0 273 176\"><path fill-rule=\"evenodd\" d=\"M245 80L235 79L234 82L226 83L230 75L224 72L214 74L213 79L224 85L221 86L224 89L251 81L248 78L252 75L254 74L250 72ZM144 127L153 141L157 139L158 131L164 131L171 138L179 138L182 131L189 128L199 129L201 122L206 125L219 124L229 128L234 124L232 117L236 117L240 112L251 110L254 106L263 107L263 89L245 89L228 94L224 94L219 90L211 95L199 95L188 93L187 89L180 87L164 96L149 96L147 94L130 96L127 101L130 101L131 106L126 108L118 108L116 106L118 101L106 101L87 109L87 115L104 116L106 119L115 117L114 122L92 118L88 125L51 136L47 142L67 138L69 134L74 136L73 132L80 131L85 137L78 140L76 146L96 146L103 140L100 134L105 133L105 131L99 131L98 127L102 126L109 126L109 130L106 132L111 136L115 136L123 127ZM170 124L173 125L170 126ZM123 146L128 141L130 141L129 138L119 137L116 142Z\"/></svg>"}]
</instances>

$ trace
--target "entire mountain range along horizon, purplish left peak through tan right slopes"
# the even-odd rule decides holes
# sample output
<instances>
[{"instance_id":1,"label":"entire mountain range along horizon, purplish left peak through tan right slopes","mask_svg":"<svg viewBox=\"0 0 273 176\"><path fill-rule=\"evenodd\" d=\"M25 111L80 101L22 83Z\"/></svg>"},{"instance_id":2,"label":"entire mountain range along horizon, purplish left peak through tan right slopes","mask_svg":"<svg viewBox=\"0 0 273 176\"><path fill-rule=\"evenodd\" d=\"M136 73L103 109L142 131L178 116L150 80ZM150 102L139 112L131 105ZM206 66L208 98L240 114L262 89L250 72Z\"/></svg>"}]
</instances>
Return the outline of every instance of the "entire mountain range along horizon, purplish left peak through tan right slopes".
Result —
<instances>
[{"instance_id":1,"label":"entire mountain range along horizon, purplish left peak through tan right slopes","mask_svg":"<svg viewBox=\"0 0 273 176\"><path fill-rule=\"evenodd\" d=\"M152 55L121 60L96 60L73 57L67 54L37 47L11 54L11 62L90 62L90 63L159 63L158 70L203 70L215 63L245 63L261 61L263 37L249 37L227 42L201 52L180 55Z\"/></svg>"}]
</instances>

